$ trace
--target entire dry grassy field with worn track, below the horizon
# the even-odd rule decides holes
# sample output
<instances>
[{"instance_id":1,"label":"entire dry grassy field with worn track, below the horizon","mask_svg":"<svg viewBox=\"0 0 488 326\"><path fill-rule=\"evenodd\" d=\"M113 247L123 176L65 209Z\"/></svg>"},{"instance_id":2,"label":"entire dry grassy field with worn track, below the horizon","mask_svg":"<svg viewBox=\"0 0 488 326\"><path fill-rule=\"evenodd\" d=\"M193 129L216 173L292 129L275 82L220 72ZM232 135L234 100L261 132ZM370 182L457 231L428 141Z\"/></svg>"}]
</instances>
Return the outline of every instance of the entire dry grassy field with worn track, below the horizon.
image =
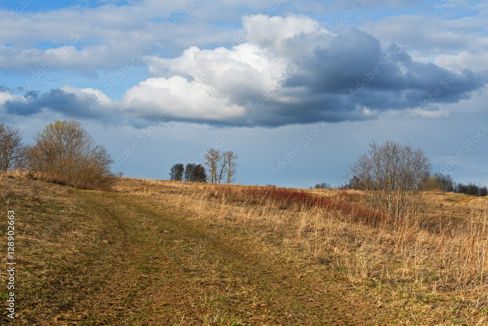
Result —
<instances>
[{"instance_id":1,"label":"entire dry grassy field with worn track, below the horizon","mask_svg":"<svg viewBox=\"0 0 488 326\"><path fill-rule=\"evenodd\" d=\"M488 322L486 197L429 193L423 215L392 221L356 190L122 178L101 192L7 173L0 202L17 263L1 325Z\"/></svg>"}]
</instances>

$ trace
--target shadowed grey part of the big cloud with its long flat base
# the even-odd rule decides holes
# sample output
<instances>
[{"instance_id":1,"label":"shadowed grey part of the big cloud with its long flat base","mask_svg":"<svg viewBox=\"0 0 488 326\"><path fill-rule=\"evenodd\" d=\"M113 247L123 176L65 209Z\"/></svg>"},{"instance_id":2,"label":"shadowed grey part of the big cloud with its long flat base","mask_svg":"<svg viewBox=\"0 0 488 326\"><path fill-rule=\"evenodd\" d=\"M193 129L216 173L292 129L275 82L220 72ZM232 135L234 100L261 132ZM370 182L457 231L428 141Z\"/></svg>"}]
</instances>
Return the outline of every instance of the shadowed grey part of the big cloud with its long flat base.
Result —
<instances>
[{"instance_id":1,"label":"shadowed grey part of the big cloud with its long flat base","mask_svg":"<svg viewBox=\"0 0 488 326\"><path fill-rule=\"evenodd\" d=\"M233 103L251 107L243 117L225 121L175 118L164 115L164 110L163 116L177 121L273 127L322 120L364 121L387 110L437 110L437 104L468 99L472 91L485 85L482 76L466 67L449 71L434 63L413 61L407 51L408 44L401 40L382 50L372 35L357 28L345 29L295 64L296 69L274 94L266 95L250 82L232 89L228 98Z\"/></svg>"}]
</instances>

